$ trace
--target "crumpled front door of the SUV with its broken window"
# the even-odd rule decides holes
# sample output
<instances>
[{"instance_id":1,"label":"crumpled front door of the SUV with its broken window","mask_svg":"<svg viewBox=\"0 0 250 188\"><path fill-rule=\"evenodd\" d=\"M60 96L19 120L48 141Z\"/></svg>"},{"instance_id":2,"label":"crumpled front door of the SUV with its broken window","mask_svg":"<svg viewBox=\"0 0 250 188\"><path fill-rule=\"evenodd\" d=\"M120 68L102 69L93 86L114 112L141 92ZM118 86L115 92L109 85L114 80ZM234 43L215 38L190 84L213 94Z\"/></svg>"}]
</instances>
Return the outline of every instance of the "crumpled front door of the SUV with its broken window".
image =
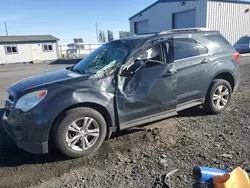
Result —
<instances>
[{"instance_id":1,"label":"crumpled front door of the SUV with its broken window","mask_svg":"<svg viewBox=\"0 0 250 188\"><path fill-rule=\"evenodd\" d=\"M120 129L176 114L176 69L168 46L141 49L120 69L116 91Z\"/></svg>"}]
</instances>

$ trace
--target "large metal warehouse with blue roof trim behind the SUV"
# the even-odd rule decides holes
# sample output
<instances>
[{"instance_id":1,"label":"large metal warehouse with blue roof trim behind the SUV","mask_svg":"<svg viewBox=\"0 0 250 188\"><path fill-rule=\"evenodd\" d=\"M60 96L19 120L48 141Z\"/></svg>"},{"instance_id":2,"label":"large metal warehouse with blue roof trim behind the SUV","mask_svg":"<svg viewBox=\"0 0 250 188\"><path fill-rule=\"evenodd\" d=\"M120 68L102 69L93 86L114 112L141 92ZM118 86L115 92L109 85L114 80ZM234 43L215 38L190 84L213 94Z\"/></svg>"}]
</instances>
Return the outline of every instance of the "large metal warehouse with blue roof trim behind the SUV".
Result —
<instances>
[{"instance_id":1,"label":"large metal warehouse with blue roof trim behind the SUV","mask_svg":"<svg viewBox=\"0 0 250 188\"><path fill-rule=\"evenodd\" d=\"M232 44L250 35L250 0L158 0L132 16L131 34L206 27Z\"/></svg>"}]
</instances>

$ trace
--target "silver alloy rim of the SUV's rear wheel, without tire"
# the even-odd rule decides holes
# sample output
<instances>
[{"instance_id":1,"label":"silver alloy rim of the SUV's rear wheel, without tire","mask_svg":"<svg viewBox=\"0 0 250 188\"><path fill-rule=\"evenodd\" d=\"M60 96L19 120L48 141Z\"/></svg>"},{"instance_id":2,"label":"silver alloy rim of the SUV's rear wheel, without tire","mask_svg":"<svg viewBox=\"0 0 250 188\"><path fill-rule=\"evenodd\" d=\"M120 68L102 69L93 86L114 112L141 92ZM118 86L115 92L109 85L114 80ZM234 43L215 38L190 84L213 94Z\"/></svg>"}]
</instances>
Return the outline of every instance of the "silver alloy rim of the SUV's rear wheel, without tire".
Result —
<instances>
[{"instance_id":1,"label":"silver alloy rim of the SUV's rear wheel, without tire","mask_svg":"<svg viewBox=\"0 0 250 188\"><path fill-rule=\"evenodd\" d=\"M213 94L213 104L216 109L224 108L229 100L229 90L226 86L220 85L215 89Z\"/></svg>"}]
</instances>

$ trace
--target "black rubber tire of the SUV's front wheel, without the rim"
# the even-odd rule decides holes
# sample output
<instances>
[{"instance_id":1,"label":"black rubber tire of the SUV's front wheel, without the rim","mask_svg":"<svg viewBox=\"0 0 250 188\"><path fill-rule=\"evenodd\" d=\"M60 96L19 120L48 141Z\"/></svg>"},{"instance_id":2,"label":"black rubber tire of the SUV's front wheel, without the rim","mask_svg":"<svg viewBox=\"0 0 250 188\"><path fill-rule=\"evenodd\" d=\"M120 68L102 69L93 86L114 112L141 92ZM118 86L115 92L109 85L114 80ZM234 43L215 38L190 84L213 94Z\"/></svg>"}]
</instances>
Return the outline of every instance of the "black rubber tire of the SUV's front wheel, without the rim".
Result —
<instances>
[{"instance_id":1,"label":"black rubber tire of the SUV's front wheel, without the rim","mask_svg":"<svg viewBox=\"0 0 250 188\"><path fill-rule=\"evenodd\" d=\"M92 147L83 151L76 151L70 148L66 142L66 134L71 123L82 117L90 117L94 119L99 125L99 137ZM107 134L107 125L103 116L92 108L81 107L69 110L65 113L64 119L58 124L55 129L55 144L56 147L68 157L78 158L83 156L88 156L102 145Z\"/></svg>"}]
</instances>

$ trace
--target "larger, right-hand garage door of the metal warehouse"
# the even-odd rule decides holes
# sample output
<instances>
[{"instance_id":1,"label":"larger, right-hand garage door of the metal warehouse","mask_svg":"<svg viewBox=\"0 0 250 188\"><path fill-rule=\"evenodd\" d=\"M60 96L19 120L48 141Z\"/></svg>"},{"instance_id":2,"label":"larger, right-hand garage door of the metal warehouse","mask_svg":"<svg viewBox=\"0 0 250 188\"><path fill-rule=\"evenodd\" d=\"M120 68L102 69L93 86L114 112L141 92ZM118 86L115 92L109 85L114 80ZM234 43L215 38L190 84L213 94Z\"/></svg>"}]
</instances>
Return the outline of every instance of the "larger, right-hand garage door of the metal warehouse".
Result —
<instances>
[{"instance_id":1,"label":"larger, right-hand garage door of the metal warehouse","mask_svg":"<svg viewBox=\"0 0 250 188\"><path fill-rule=\"evenodd\" d=\"M173 29L196 27L196 10L173 14Z\"/></svg>"}]
</instances>

